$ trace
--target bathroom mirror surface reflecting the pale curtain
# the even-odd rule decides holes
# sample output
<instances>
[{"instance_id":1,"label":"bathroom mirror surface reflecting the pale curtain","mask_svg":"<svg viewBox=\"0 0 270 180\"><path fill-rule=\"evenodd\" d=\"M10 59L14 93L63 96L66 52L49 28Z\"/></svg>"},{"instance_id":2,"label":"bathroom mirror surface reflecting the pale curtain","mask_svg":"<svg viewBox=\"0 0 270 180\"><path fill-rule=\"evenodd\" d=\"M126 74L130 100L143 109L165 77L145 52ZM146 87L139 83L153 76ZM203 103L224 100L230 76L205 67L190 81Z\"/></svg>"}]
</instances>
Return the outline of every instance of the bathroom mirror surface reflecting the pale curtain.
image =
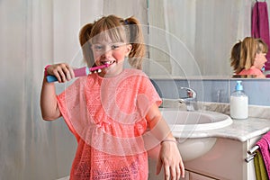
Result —
<instances>
[{"instance_id":1,"label":"bathroom mirror surface reflecting the pale curtain","mask_svg":"<svg viewBox=\"0 0 270 180\"><path fill-rule=\"evenodd\" d=\"M230 49L250 36L254 2L148 0L150 59L171 76L230 78Z\"/></svg>"}]
</instances>

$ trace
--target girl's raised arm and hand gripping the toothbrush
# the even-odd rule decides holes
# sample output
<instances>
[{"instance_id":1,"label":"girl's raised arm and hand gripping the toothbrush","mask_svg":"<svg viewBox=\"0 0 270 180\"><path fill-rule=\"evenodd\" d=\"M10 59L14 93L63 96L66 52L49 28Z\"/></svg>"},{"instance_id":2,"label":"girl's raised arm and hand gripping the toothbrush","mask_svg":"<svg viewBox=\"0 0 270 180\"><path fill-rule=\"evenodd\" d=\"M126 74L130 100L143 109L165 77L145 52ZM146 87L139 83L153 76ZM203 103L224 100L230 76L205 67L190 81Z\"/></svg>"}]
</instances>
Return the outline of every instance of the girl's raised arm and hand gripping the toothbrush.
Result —
<instances>
[{"instance_id":1,"label":"girl's raised arm and hand gripping the toothbrush","mask_svg":"<svg viewBox=\"0 0 270 180\"><path fill-rule=\"evenodd\" d=\"M65 63L51 65L47 68L47 75L54 75L59 83L64 83L74 77L71 67ZM54 83L48 83L46 76L43 78L43 84L40 93L40 109L44 120L56 120L61 116L58 109L57 94Z\"/></svg>"}]
</instances>

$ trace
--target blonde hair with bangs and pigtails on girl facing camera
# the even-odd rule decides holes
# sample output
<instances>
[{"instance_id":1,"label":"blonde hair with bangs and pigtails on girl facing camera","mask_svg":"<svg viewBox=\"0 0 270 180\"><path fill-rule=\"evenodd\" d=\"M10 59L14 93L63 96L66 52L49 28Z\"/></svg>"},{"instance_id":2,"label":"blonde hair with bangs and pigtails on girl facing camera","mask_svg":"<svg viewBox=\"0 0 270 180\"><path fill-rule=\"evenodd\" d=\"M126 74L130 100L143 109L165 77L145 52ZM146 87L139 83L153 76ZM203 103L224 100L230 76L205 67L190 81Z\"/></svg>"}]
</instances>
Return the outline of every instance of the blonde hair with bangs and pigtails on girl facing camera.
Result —
<instances>
[{"instance_id":1,"label":"blonde hair with bangs and pigtails on girl facing camera","mask_svg":"<svg viewBox=\"0 0 270 180\"><path fill-rule=\"evenodd\" d=\"M145 45L143 33L136 18L122 19L116 15L109 15L82 27L79 33L79 41L88 67L94 66L91 44L94 43L96 37L109 37L111 40L130 43L132 45L128 59L130 66L138 69L142 68Z\"/></svg>"}]
</instances>

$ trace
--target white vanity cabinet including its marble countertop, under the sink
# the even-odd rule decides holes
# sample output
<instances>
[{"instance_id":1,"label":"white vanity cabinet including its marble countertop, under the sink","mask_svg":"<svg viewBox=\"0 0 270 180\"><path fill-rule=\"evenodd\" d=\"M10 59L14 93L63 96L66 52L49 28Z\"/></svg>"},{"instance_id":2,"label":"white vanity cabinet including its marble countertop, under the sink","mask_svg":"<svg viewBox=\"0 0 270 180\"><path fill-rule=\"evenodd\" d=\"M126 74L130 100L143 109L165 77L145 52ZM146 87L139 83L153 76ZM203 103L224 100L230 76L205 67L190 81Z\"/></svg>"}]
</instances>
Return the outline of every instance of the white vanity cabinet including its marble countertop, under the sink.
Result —
<instances>
[{"instance_id":1,"label":"white vanity cabinet including its marble countertop, under the sink","mask_svg":"<svg viewBox=\"0 0 270 180\"><path fill-rule=\"evenodd\" d=\"M260 111L257 111L260 112ZM261 114L270 117L270 111ZM193 160L184 161L184 180L255 180L254 160L246 162L247 151L270 130L270 120L266 117L236 120L220 129L193 131L191 139L217 138L213 147ZM174 131L173 131L174 133ZM178 137L177 137L178 138ZM198 149L190 148L190 152ZM181 153L181 151L180 151ZM164 175L156 175L156 163L149 161L149 180L163 180Z\"/></svg>"}]
</instances>

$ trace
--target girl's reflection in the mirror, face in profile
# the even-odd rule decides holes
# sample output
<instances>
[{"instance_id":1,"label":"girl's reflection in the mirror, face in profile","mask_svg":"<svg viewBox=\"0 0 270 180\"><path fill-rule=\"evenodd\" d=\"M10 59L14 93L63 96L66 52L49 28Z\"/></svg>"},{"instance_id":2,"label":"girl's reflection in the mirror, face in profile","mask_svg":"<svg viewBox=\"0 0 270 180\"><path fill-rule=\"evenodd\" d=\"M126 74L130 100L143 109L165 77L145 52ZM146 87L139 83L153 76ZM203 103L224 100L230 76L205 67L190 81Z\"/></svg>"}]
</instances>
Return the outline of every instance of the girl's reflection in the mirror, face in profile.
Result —
<instances>
[{"instance_id":1,"label":"girl's reflection in the mirror, face in profile","mask_svg":"<svg viewBox=\"0 0 270 180\"><path fill-rule=\"evenodd\" d=\"M238 75L254 75L259 78L266 76L262 72L265 67L267 46L263 40L251 37L241 42Z\"/></svg>"}]
</instances>

